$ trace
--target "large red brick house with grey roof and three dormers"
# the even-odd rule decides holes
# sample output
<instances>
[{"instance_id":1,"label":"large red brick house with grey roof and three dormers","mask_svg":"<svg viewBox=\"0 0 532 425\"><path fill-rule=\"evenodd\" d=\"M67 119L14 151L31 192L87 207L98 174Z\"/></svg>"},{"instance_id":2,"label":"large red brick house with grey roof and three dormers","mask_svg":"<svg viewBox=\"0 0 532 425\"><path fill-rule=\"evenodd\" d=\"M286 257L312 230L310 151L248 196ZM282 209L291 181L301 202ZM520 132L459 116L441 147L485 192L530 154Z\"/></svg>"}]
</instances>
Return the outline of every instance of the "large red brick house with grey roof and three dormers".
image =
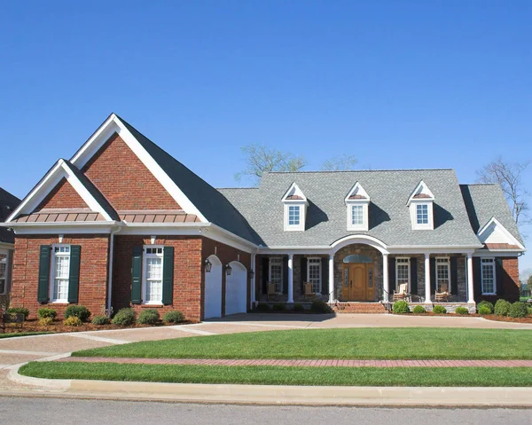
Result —
<instances>
[{"instance_id":1,"label":"large red brick house with grey roof and three dormers","mask_svg":"<svg viewBox=\"0 0 532 425\"><path fill-rule=\"evenodd\" d=\"M115 114L4 226L13 305L192 320L314 299L473 311L518 299L525 251L501 189L459 185L452 169L267 173L216 190Z\"/></svg>"}]
</instances>

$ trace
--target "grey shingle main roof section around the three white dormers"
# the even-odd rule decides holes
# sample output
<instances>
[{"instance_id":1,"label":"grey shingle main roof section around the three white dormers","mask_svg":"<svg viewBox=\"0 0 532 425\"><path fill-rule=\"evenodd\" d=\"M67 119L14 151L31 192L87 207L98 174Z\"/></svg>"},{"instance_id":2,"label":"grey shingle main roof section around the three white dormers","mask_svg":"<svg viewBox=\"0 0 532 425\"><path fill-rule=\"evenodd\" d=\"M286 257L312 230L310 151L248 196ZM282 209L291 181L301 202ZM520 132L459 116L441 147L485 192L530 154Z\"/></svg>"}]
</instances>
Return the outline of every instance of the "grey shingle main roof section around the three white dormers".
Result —
<instances>
[{"instance_id":1,"label":"grey shingle main roof section around the three white dormers","mask_svg":"<svg viewBox=\"0 0 532 425\"><path fill-rule=\"evenodd\" d=\"M423 180L434 193L434 230L412 230L406 206ZM309 201L306 230L284 232L279 194L295 182ZM348 231L345 198L359 182L371 193L369 231ZM254 191L220 189L246 217L264 246L325 246L351 234L367 234L388 246L481 247L469 224L458 179L452 169L266 173Z\"/></svg>"}]
</instances>

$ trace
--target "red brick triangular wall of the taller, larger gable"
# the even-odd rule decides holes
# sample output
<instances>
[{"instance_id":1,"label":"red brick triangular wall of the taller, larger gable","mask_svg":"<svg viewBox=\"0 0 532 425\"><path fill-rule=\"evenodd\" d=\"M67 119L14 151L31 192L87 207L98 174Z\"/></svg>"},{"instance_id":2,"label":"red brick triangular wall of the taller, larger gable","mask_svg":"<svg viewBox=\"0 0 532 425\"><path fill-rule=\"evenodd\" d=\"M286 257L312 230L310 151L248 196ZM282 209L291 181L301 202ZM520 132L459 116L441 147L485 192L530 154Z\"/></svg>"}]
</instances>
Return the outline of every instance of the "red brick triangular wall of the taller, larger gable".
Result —
<instances>
[{"instance_id":1,"label":"red brick triangular wall of the taller, larger gable","mask_svg":"<svg viewBox=\"0 0 532 425\"><path fill-rule=\"evenodd\" d=\"M114 209L180 209L118 134L107 140L82 171Z\"/></svg>"}]
</instances>

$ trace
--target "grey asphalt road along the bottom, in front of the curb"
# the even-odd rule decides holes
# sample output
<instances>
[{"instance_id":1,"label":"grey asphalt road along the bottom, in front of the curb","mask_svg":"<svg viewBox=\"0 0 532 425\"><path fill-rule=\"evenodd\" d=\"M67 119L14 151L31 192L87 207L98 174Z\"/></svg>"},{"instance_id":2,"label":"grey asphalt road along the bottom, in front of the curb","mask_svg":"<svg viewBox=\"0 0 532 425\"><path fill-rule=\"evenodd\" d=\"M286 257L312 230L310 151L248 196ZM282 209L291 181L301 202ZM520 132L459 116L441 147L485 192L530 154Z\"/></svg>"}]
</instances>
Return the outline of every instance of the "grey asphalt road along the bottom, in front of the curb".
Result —
<instances>
[{"instance_id":1,"label":"grey asphalt road along the bottom, in front of the curb","mask_svg":"<svg viewBox=\"0 0 532 425\"><path fill-rule=\"evenodd\" d=\"M0 397L3 423L164 424L379 424L440 423L531 425L532 409L413 409L261 405L191 405L157 402Z\"/></svg>"}]
</instances>

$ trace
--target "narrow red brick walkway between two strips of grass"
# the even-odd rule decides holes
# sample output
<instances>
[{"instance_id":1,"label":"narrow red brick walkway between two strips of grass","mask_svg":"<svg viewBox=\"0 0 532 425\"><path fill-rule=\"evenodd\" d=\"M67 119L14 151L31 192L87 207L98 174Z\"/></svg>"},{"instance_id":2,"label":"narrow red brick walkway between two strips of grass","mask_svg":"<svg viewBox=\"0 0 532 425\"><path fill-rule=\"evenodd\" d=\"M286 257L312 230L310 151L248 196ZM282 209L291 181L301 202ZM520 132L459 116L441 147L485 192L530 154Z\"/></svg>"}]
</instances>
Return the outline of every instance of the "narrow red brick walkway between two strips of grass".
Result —
<instances>
[{"instance_id":1,"label":"narrow red brick walkway between two strips of grass","mask_svg":"<svg viewBox=\"0 0 532 425\"><path fill-rule=\"evenodd\" d=\"M311 366L311 367L532 367L532 360L246 360L223 358L60 358L60 362L134 365Z\"/></svg>"}]
</instances>

